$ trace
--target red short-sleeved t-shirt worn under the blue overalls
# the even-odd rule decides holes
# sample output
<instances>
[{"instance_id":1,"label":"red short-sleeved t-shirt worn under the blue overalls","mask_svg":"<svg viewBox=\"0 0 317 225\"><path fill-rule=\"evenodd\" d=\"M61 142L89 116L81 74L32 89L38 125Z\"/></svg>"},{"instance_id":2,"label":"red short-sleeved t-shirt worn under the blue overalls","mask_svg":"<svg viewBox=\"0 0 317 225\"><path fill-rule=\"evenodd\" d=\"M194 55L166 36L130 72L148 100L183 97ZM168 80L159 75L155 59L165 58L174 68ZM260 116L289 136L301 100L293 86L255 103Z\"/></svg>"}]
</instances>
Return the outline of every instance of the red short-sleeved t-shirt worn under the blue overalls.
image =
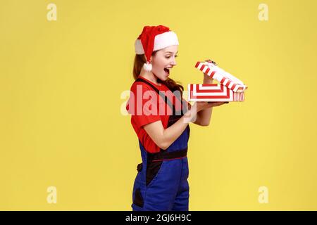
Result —
<instances>
[{"instance_id":1,"label":"red short-sleeved t-shirt worn under the blue overalls","mask_svg":"<svg viewBox=\"0 0 317 225\"><path fill-rule=\"evenodd\" d=\"M139 78L154 85L159 91L167 91L164 92L164 94L168 97L170 102L173 103L175 110L178 111L182 108L178 98L175 97L166 85L154 84L149 81L149 79L141 76L139 76ZM142 146L149 153L157 153L160 151L159 146L152 141L143 126L161 120L163 128L166 129L168 126L168 118L172 114L172 109L166 104L163 98L149 86L149 84L145 84L144 82L134 82L130 91L130 98L127 102L126 109L128 110L128 113L131 114L132 127L135 129L135 133L137 134L139 141L141 141ZM183 98L182 101L183 103L187 103Z\"/></svg>"}]
</instances>

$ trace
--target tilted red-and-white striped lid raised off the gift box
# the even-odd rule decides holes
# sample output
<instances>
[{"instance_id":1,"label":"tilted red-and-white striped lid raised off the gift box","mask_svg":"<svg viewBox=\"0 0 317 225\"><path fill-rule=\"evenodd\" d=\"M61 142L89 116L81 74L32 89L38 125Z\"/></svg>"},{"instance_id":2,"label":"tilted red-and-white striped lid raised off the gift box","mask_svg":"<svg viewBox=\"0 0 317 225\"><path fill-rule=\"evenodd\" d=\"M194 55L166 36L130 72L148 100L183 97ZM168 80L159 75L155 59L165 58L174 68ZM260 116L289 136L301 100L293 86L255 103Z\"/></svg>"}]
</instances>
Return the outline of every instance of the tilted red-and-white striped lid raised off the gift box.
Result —
<instances>
[{"instance_id":1,"label":"tilted red-and-white striped lid raised off the gift box","mask_svg":"<svg viewBox=\"0 0 317 225\"><path fill-rule=\"evenodd\" d=\"M230 75L229 72L225 72L225 70L219 68L213 63L197 62L195 68L201 70L211 78L216 79L220 84L223 84L234 92L243 92L248 88L240 79Z\"/></svg>"}]
</instances>

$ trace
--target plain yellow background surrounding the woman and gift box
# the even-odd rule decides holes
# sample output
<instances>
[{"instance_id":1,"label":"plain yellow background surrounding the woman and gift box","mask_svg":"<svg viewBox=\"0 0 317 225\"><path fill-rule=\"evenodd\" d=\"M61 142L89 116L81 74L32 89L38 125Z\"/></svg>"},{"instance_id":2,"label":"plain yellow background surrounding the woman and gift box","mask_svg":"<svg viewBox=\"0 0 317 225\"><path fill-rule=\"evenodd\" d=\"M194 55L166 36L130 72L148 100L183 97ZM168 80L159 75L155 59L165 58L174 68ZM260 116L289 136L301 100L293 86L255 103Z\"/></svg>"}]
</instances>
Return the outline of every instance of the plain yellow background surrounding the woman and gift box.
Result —
<instances>
[{"instance_id":1,"label":"plain yellow background surrounding the woman and gift box","mask_svg":"<svg viewBox=\"0 0 317 225\"><path fill-rule=\"evenodd\" d=\"M186 90L206 58L249 86L190 125L189 210L317 210L316 1L0 3L0 210L131 210L141 156L120 94L144 25L178 34Z\"/></svg>"}]
</instances>

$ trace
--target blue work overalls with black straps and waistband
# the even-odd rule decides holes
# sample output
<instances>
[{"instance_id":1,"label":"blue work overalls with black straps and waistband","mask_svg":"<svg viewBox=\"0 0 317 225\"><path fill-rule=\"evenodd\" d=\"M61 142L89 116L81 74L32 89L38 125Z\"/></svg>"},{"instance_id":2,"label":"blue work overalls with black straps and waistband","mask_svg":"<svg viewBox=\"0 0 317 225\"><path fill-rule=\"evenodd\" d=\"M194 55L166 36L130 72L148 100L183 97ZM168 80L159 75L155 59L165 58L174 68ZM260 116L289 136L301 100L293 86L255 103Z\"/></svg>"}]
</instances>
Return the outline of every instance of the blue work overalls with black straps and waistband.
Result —
<instances>
[{"instance_id":1,"label":"blue work overalls with black straps and waistband","mask_svg":"<svg viewBox=\"0 0 317 225\"><path fill-rule=\"evenodd\" d=\"M168 127L184 115L184 108L176 113L175 106L166 96L144 79L135 82L149 84L173 109L168 119ZM182 102L182 101L181 101ZM182 104L183 105L183 104ZM142 163L137 165L137 177L133 186L133 211L188 211L189 185L187 143L189 125L166 150L149 153L139 141Z\"/></svg>"}]
</instances>

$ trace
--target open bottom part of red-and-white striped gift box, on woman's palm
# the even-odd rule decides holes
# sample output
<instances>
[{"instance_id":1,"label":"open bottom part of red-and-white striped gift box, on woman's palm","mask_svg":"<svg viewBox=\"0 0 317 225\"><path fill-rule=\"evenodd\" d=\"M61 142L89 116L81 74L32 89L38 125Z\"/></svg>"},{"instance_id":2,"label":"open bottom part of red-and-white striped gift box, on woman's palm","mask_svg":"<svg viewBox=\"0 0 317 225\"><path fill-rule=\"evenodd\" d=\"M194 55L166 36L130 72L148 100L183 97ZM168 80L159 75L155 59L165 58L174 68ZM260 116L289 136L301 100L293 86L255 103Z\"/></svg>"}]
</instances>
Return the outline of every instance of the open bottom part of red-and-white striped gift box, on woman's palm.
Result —
<instances>
[{"instance_id":1,"label":"open bottom part of red-and-white striped gift box, on woman's palm","mask_svg":"<svg viewBox=\"0 0 317 225\"><path fill-rule=\"evenodd\" d=\"M188 101L244 101L244 92L223 84L188 84Z\"/></svg>"}]
</instances>

